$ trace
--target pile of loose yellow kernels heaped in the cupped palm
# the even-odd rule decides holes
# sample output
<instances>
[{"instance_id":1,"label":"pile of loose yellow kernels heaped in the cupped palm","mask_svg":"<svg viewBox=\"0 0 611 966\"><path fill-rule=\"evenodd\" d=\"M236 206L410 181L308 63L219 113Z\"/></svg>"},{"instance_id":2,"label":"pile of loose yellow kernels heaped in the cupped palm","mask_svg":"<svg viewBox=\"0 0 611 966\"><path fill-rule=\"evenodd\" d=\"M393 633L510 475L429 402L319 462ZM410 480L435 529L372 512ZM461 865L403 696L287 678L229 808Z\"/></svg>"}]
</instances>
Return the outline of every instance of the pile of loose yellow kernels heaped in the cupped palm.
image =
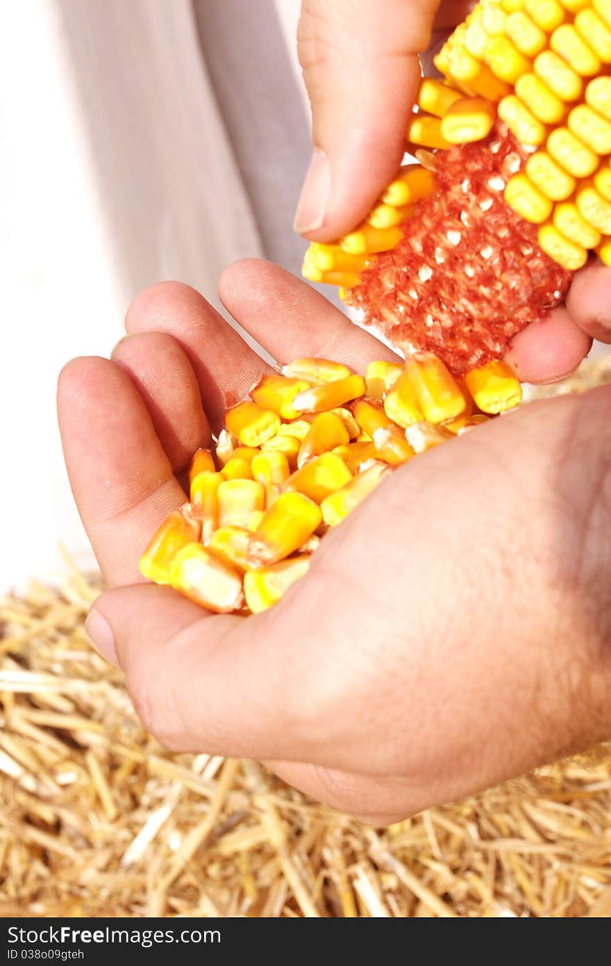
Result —
<instances>
[{"instance_id":1,"label":"pile of loose yellow kernels heaped in the cupped palm","mask_svg":"<svg viewBox=\"0 0 611 966\"><path fill-rule=\"evenodd\" d=\"M209 611L277 604L307 573L324 533L393 471L520 396L502 363L462 381L433 355L372 362L365 378L328 359L297 359L284 371L226 413L230 430L214 452L193 457L189 502L158 527L140 561L145 577ZM315 412L299 415L299 395Z\"/></svg>"}]
</instances>

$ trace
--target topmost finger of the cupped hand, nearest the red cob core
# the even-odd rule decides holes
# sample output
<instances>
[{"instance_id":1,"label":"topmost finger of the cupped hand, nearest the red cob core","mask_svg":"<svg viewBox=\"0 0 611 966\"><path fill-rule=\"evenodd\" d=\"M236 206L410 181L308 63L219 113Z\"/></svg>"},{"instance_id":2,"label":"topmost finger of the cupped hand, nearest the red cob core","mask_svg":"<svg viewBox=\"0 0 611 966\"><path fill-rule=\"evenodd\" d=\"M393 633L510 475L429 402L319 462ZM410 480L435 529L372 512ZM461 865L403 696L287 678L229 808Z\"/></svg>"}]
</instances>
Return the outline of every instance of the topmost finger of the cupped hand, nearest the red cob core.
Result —
<instances>
[{"instance_id":1,"label":"topmost finger of the cupped hand, nearest the red cob core","mask_svg":"<svg viewBox=\"0 0 611 966\"><path fill-rule=\"evenodd\" d=\"M362 370L372 359L401 361L375 335L271 262L236 262L221 275L219 295L239 325L279 362L321 355Z\"/></svg>"}]
</instances>

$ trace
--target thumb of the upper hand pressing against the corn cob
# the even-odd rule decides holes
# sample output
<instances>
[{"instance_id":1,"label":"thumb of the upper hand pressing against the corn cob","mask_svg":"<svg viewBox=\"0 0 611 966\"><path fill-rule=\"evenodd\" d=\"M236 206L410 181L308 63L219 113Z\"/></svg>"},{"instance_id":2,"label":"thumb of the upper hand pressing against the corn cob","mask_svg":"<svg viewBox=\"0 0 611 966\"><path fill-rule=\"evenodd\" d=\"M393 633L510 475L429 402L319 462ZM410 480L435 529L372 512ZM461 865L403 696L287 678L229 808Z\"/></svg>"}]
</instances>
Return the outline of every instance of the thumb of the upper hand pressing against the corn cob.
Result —
<instances>
[{"instance_id":1,"label":"thumb of the upper hand pressing against the corn cob","mask_svg":"<svg viewBox=\"0 0 611 966\"><path fill-rule=\"evenodd\" d=\"M314 153L295 231L343 235L401 163L438 0L305 0L299 60L312 105ZM381 8L381 9L380 9Z\"/></svg>"}]
</instances>

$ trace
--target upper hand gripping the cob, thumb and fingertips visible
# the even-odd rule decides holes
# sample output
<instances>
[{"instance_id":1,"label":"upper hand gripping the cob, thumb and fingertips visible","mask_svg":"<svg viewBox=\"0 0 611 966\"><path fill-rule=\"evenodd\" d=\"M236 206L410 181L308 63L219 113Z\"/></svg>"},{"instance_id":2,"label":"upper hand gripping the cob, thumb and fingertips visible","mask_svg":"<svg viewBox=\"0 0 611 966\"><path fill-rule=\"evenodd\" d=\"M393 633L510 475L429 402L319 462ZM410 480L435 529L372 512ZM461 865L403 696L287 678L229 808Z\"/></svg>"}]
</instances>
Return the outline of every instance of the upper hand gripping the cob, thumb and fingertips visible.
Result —
<instances>
[{"instance_id":1,"label":"upper hand gripping the cob, thumb and fingertips visible","mask_svg":"<svg viewBox=\"0 0 611 966\"><path fill-rule=\"evenodd\" d=\"M473 6L465 0L303 0L298 51L314 154L296 231L334 241L371 210L401 164L420 79L418 55L424 51L430 69L430 53ZM524 382L561 379L587 355L590 337L609 327L611 270L594 260L577 272L566 307L550 313L544 327L524 329L507 359Z\"/></svg>"}]
</instances>

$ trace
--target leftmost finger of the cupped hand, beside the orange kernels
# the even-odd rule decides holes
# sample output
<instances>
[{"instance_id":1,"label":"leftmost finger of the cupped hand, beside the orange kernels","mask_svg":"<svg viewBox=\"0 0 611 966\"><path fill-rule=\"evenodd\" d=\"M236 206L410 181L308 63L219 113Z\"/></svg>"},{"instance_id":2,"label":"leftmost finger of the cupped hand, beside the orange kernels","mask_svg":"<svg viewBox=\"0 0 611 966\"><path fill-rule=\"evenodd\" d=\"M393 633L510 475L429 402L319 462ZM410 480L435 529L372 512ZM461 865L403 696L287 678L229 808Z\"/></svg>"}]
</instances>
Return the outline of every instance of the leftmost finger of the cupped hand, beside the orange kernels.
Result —
<instances>
[{"instance_id":1,"label":"leftmost finger of the cupped hand, beside the orange kernels","mask_svg":"<svg viewBox=\"0 0 611 966\"><path fill-rule=\"evenodd\" d=\"M58 384L72 493L110 584L142 580L154 529L186 499L129 376L96 356L72 359Z\"/></svg>"}]
</instances>

